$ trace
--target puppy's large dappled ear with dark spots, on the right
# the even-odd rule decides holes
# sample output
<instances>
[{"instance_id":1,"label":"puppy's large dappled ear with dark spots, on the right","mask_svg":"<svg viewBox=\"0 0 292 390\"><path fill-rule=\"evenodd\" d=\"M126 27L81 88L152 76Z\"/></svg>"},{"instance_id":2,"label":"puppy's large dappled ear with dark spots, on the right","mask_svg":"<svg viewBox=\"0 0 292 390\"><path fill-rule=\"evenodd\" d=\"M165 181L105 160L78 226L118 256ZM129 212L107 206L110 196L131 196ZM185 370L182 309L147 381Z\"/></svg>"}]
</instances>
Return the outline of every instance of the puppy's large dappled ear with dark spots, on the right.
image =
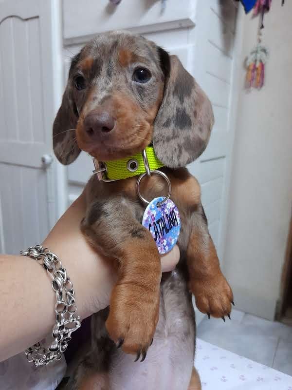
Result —
<instances>
[{"instance_id":1,"label":"puppy's large dappled ear with dark spots, on the right","mask_svg":"<svg viewBox=\"0 0 292 390\"><path fill-rule=\"evenodd\" d=\"M194 161L205 150L214 115L210 100L177 56L159 48L164 98L154 122L153 147L169 168Z\"/></svg>"}]
</instances>

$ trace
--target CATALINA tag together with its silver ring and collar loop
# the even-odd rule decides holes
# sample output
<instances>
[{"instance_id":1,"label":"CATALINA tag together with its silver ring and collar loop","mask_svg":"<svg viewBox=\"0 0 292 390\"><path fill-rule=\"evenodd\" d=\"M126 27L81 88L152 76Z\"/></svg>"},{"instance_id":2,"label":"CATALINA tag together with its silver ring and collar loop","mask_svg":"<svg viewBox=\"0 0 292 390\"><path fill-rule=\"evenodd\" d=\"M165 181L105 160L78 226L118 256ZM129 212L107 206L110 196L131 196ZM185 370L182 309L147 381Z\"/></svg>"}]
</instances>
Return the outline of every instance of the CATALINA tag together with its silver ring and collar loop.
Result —
<instances>
[{"instance_id":1,"label":"CATALINA tag together with its silver ring and collar loop","mask_svg":"<svg viewBox=\"0 0 292 390\"><path fill-rule=\"evenodd\" d=\"M177 243L181 231L180 213L175 203L170 199L171 182L164 172L154 170L150 171L146 151L143 150L142 157L146 169L146 173L139 176L136 183L136 190L139 198L147 204L143 215L142 225L150 231L154 238L160 254L165 254ZM140 193L140 183L145 176L151 175L162 176L168 185L168 194L166 197L160 196L154 198L150 202L145 199Z\"/></svg>"}]
</instances>

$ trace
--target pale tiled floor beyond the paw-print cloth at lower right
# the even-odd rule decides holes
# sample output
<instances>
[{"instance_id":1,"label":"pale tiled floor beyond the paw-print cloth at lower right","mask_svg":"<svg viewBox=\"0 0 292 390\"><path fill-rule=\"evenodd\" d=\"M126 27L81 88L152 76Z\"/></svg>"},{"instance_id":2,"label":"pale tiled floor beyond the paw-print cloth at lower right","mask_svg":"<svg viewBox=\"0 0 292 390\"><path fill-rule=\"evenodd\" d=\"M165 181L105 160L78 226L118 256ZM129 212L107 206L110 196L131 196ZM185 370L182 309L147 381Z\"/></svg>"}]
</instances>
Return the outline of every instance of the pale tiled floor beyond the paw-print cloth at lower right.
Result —
<instances>
[{"instance_id":1,"label":"pale tiled floor beyond the paw-print cloth at lower right","mask_svg":"<svg viewBox=\"0 0 292 390\"><path fill-rule=\"evenodd\" d=\"M292 327L232 311L231 321L203 319L197 336L204 341L292 375Z\"/></svg>"}]
</instances>

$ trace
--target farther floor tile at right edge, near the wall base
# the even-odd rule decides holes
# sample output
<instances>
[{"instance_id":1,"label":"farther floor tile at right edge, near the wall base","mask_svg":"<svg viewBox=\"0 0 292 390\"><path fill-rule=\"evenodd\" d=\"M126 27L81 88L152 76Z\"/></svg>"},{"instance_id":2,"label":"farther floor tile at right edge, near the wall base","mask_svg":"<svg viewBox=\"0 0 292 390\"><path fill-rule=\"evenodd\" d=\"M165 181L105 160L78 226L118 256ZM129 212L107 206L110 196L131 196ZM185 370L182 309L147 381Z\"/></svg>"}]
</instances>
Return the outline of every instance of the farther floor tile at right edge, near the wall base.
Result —
<instances>
[{"instance_id":1,"label":"farther floor tile at right edge, near the wall base","mask_svg":"<svg viewBox=\"0 0 292 390\"><path fill-rule=\"evenodd\" d=\"M241 324L254 327L256 334L281 337L292 341L292 327L281 322L269 321L255 315L246 314Z\"/></svg>"}]
</instances>

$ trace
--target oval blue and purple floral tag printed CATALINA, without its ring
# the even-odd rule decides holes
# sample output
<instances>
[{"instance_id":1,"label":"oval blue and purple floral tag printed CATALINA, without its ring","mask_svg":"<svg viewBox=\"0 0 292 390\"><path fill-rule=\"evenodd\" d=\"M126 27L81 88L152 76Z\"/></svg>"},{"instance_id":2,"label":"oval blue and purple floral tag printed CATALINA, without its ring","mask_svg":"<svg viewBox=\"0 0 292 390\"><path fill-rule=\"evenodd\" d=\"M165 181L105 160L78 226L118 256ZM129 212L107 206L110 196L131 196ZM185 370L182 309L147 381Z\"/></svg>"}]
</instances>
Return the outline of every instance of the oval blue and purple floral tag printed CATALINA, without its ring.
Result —
<instances>
[{"instance_id":1,"label":"oval blue and purple floral tag printed CATALINA, without its ring","mask_svg":"<svg viewBox=\"0 0 292 390\"><path fill-rule=\"evenodd\" d=\"M143 215L142 225L149 229L160 254L169 252L177 243L181 230L181 218L177 206L168 199L164 204L163 196L153 199Z\"/></svg>"}]
</instances>

